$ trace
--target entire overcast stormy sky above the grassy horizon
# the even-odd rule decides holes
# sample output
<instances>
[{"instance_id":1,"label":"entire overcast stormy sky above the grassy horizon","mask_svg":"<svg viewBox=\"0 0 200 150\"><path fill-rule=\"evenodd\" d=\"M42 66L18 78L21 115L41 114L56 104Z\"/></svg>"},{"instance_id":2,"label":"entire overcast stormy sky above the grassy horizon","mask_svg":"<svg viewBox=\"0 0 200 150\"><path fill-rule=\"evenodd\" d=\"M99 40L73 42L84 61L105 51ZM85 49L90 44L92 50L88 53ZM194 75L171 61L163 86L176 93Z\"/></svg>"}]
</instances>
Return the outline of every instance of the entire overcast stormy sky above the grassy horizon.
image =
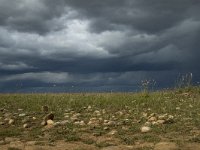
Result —
<instances>
[{"instance_id":1,"label":"entire overcast stormy sky above the grassy horizon","mask_svg":"<svg viewBox=\"0 0 200 150\"><path fill-rule=\"evenodd\" d=\"M0 0L0 92L200 81L199 0Z\"/></svg>"}]
</instances>

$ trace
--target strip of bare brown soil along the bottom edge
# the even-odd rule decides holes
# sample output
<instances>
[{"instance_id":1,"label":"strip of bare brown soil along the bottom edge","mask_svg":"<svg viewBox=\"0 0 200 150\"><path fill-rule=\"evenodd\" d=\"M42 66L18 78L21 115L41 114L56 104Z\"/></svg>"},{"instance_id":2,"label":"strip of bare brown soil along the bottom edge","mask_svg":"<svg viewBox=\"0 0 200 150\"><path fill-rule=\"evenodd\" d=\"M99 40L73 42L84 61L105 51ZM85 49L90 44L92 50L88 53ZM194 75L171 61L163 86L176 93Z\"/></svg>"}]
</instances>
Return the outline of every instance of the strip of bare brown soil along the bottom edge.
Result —
<instances>
[{"instance_id":1,"label":"strip of bare brown soil along the bottom edge","mask_svg":"<svg viewBox=\"0 0 200 150\"><path fill-rule=\"evenodd\" d=\"M98 142L105 142L111 139L97 139ZM112 140L111 140L112 141ZM115 141L115 140L113 140ZM118 145L116 145L118 144ZM57 141L55 143L36 142L36 141L10 141L5 145L0 145L1 150L137 150L137 149L151 149L151 150L200 150L199 143L185 143L184 145L177 145L173 142L159 142L153 143L136 143L134 145L122 145L115 141L115 145L107 145L105 147L98 147L95 144L85 144L83 142L65 142Z\"/></svg>"}]
</instances>

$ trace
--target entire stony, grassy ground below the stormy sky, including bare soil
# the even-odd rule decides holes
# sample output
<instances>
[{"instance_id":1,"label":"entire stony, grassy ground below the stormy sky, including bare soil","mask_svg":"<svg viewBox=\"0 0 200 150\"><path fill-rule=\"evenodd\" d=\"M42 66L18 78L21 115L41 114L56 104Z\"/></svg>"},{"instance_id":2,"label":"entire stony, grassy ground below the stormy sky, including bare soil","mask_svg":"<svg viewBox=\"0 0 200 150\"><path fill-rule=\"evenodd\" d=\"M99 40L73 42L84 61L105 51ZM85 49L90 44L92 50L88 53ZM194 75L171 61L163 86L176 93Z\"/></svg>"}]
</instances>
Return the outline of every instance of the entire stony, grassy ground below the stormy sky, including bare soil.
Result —
<instances>
[{"instance_id":1,"label":"entire stony, grassy ground below the stormy sky, including bare soil","mask_svg":"<svg viewBox=\"0 0 200 150\"><path fill-rule=\"evenodd\" d=\"M200 88L0 95L1 150L199 150Z\"/></svg>"}]
</instances>

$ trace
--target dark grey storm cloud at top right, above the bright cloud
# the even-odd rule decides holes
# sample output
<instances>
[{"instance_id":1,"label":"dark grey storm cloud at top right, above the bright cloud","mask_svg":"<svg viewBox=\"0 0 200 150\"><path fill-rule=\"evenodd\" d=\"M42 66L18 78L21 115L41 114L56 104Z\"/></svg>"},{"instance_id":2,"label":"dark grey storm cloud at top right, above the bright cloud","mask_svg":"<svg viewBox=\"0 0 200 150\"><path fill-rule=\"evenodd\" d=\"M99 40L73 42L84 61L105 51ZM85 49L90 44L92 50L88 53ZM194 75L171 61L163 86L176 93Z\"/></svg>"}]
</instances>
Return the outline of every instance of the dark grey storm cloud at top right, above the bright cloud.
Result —
<instances>
[{"instance_id":1,"label":"dark grey storm cloud at top right, above the bright cloud","mask_svg":"<svg viewBox=\"0 0 200 150\"><path fill-rule=\"evenodd\" d=\"M148 33L161 32L186 18L199 18L200 5L198 0L69 0L67 3L91 17L96 31L125 25Z\"/></svg>"}]
</instances>

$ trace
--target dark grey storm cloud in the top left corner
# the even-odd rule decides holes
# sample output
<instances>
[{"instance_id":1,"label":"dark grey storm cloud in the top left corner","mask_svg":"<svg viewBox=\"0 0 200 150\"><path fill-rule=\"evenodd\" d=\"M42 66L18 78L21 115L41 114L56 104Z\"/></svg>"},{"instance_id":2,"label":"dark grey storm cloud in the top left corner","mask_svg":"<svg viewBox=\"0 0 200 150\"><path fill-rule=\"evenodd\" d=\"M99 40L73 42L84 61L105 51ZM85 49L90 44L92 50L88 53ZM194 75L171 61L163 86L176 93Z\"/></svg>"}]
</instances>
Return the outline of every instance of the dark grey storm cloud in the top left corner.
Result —
<instances>
[{"instance_id":1,"label":"dark grey storm cloud in the top left corner","mask_svg":"<svg viewBox=\"0 0 200 150\"><path fill-rule=\"evenodd\" d=\"M47 33L59 30L56 18L68 13L62 0L0 1L0 25L22 32Z\"/></svg>"}]
</instances>

